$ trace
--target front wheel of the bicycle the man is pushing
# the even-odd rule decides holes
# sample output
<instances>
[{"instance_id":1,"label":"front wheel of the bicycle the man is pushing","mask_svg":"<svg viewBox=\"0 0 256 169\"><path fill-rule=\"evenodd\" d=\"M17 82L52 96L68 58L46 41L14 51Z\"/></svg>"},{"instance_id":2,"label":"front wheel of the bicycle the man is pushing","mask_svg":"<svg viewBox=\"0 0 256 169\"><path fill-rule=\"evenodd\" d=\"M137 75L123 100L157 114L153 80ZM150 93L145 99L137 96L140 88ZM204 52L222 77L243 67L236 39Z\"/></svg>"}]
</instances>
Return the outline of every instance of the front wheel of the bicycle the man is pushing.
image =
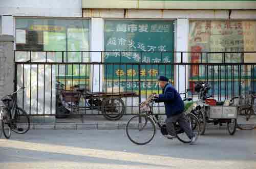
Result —
<instances>
[{"instance_id":1,"label":"front wheel of the bicycle the man is pushing","mask_svg":"<svg viewBox=\"0 0 256 169\"><path fill-rule=\"evenodd\" d=\"M156 124L147 115L136 115L126 125L128 138L137 145L150 143L156 134Z\"/></svg>"}]
</instances>

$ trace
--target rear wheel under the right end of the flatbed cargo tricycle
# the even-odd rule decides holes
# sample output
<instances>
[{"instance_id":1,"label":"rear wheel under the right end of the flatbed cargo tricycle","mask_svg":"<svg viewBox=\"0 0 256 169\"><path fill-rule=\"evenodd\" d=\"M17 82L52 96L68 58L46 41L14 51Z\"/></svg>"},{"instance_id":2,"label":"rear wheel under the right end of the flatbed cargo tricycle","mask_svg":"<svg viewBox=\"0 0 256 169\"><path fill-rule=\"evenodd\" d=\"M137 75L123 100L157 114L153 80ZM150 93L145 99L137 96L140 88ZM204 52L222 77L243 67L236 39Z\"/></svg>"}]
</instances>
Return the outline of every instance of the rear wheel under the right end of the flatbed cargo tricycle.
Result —
<instances>
[{"instance_id":1,"label":"rear wheel under the right end of the flatbed cargo tricycle","mask_svg":"<svg viewBox=\"0 0 256 169\"><path fill-rule=\"evenodd\" d=\"M102 114L108 120L119 120L124 114L124 103L121 98L105 99L102 105Z\"/></svg>"}]
</instances>

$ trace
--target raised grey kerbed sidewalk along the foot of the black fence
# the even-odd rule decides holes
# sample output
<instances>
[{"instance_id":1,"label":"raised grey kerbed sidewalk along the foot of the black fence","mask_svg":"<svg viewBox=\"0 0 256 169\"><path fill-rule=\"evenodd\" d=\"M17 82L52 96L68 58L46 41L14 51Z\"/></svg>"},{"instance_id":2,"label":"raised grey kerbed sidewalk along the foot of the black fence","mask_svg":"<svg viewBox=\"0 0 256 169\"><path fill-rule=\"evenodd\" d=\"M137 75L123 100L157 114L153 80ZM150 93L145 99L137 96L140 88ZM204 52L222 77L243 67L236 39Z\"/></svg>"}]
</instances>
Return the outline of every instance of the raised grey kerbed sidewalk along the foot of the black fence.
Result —
<instances>
[{"instance_id":1,"label":"raised grey kerbed sidewalk along the foot of the black fence","mask_svg":"<svg viewBox=\"0 0 256 169\"><path fill-rule=\"evenodd\" d=\"M31 129L57 129L57 130L102 130L125 129L127 121L134 115L124 115L117 121L106 120L102 115L72 115L66 119L55 119L54 116L31 117ZM165 118L164 115L163 118ZM241 120L239 120L241 121ZM256 119L249 123L244 121L240 125L256 126ZM226 130L223 126L207 123L206 130Z\"/></svg>"}]
</instances>

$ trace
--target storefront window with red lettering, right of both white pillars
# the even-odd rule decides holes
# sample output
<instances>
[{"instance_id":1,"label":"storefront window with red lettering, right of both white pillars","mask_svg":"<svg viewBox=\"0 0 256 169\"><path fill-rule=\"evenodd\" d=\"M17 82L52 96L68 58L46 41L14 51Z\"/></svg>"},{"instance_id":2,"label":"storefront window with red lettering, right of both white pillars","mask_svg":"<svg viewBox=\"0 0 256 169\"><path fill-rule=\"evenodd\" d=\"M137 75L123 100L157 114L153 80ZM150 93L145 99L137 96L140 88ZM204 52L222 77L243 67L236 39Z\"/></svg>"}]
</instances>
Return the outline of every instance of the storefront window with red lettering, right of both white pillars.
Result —
<instances>
[{"instance_id":1,"label":"storefront window with red lettering, right of both white pillars","mask_svg":"<svg viewBox=\"0 0 256 169\"><path fill-rule=\"evenodd\" d=\"M190 21L189 22L189 45L190 51L194 52L220 52L220 53L191 53L189 60L192 63L240 63L255 62L253 53L236 53L239 51L255 51L256 50L256 21ZM221 53L221 52L234 53ZM227 69L226 71L224 69ZM245 76L246 68L246 76ZM222 96L225 92L224 81L226 79L231 92L231 79L234 79L234 91L238 94L238 78L248 79L252 75L253 68L251 66L228 67L207 67L191 66L190 69L190 87L193 86L192 81L209 80L212 86L215 86L215 93L221 90ZM233 70L233 72L232 72ZM226 72L226 73L225 73ZM241 72L239 74L239 72ZM242 73L243 72L243 73ZM207 77L206 77L207 76ZM218 80L221 81L221 89L218 87ZM215 82L214 82L215 81Z\"/></svg>"}]
</instances>

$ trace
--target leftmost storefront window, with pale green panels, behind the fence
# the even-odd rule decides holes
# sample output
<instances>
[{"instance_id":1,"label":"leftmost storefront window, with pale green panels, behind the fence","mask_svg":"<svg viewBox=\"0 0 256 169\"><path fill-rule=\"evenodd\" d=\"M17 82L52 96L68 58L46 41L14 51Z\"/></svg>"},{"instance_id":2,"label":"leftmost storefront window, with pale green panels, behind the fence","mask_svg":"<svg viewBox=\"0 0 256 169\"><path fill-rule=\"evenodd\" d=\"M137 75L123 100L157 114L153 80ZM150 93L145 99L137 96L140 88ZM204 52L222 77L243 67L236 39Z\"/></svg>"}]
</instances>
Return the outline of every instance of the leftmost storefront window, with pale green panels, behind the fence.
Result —
<instances>
[{"instance_id":1,"label":"leftmost storefront window, with pale green panels, behind the fence","mask_svg":"<svg viewBox=\"0 0 256 169\"><path fill-rule=\"evenodd\" d=\"M16 18L16 50L37 52L16 52L16 61L33 62L90 62L89 20L85 19L38 19ZM48 52L43 52L48 51ZM69 51L69 52L66 52ZM72 52L73 51L73 52ZM66 79L67 88L78 79L89 79L89 66L55 66L56 79ZM85 76L88 77L85 77ZM88 81L88 80L87 80Z\"/></svg>"}]
</instances>

